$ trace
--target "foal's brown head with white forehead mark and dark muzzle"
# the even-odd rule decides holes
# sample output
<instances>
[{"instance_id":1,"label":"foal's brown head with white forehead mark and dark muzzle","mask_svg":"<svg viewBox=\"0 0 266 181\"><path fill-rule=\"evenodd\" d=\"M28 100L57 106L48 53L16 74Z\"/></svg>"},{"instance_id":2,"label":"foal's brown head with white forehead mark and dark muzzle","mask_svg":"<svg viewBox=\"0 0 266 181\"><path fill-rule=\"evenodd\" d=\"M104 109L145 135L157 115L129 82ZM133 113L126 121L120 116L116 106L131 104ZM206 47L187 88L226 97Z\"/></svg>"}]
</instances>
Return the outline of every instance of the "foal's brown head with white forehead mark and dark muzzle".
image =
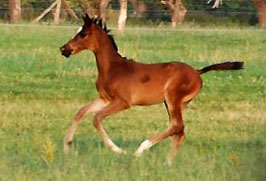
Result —
<instances>
[{"instance_id":1,"label":"foal's brown head with white forehead mark and dark muzzle","mask_svg":"<svg viewBox=\"0 0 266 181\"><path fill-rule=\"evenodd\" d=\"M60 48L62 55L69 57L82 50L95 51L100 48L99 38L108 37L106 25L102 25L101 19L90 18L86 14L83 18L84 25L80 27L76 35Z\"/></svg>"}]
</instances>

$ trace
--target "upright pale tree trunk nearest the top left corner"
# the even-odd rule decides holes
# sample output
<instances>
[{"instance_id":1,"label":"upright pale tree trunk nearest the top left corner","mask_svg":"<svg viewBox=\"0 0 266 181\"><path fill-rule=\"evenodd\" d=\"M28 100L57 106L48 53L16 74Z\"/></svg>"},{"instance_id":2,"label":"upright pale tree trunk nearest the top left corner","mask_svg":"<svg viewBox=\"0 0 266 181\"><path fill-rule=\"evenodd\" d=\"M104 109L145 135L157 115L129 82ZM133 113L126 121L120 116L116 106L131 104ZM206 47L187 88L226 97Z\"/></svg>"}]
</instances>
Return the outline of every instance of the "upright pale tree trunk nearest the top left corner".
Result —
<instances>
[{"instance_id":1,"label":"upright pale tree trunk nearest the top left corner","mask_svg":"<svg viewBox=\"0 0 266 181\"><path fill-rule=\"evenodd\" d=\"M21 18L20 0L9 0L9 15L11 23L16 23L20 20Z\"/></svg>"}]
</instances>

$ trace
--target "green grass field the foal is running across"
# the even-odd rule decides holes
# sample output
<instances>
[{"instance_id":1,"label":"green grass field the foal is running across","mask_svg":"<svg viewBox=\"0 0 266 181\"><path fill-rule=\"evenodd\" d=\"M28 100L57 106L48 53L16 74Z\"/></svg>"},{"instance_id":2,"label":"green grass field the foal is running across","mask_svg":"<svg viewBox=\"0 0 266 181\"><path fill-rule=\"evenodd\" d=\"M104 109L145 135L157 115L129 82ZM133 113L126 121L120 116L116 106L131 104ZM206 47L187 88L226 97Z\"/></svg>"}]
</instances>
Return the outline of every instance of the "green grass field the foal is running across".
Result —
<instances>
[{"instance_id":1,"label":"green grass field the foal is running across","mask_svg":"<svg viewBox=\"0 0 266 181\"><path fill-rule=\"evenodd\" d=\"M145 63L183 61L202 68L245 61L245 69L210 72L184 112L186 140L172 167L170 140L141 158L146 138L168 126L162 105L133 107L108 117L111 138L128 152L106 149L88 116L72 155L63 137L76 111L97 98L93 54L65 59L59 47L73 27L0 25L0 180L265 180L266 36L257 29L129 29L113 31L119 52Z\"/></svg>"}]
</instances>

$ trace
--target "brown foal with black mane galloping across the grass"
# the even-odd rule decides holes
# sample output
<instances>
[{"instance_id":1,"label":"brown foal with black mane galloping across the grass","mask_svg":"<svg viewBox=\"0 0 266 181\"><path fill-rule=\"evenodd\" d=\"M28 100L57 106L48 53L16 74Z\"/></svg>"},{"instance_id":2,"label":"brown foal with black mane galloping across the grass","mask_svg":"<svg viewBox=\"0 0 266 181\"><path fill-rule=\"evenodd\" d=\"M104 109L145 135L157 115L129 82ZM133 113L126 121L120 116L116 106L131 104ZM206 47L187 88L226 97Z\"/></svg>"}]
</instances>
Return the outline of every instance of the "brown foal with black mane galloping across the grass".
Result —
<instances>
[{"instance_id":1,"label":"brown foal with black mane galloping across the grass","mask_svg":"<svg viewBox=\"0 0 266 181\"><path fill-rule=\"evenodd\" d=\"M170 125L164 132L141 143L135 155L171 137L169 163L185 138L182 110L202 87L200 75L211 70L238 70L243 62L225 62L196 70L181 62L143 64L127 60L117 52L112 36L101 20L83 17L84 25L77 34L60 48L69 57L82 50L91 50L97 62L96 88L99 98L82 107L64 138L64 151L70 144L79 121L89 113L95 113L93 125L105 145L117 153L125 153L107 135L102 120L109 115L129 109L133 105L152 105L164 102L169 113Z\"/></svg>"}]
</instances>

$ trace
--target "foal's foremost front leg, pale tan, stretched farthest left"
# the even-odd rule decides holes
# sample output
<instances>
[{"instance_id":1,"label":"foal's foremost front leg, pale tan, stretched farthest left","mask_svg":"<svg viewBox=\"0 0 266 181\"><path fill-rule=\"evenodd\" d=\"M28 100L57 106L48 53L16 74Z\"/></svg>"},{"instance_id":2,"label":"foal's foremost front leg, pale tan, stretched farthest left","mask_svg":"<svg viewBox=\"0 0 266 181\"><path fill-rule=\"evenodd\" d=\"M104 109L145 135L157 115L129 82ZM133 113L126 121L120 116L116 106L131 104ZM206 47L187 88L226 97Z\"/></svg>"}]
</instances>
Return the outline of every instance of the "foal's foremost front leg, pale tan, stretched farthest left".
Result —
<instances>
[{"instance_id":1,"label":"foal's foremost front leg, pale tan, stretched farthest left","mask_svg":"<svg viewBox=\"0 0 266 181\"><path fill-rule=\"evenodd\" d=\"M83 106L75 115L74 121L69 128L65 138L64 138L64 152L67 154L70 150L70 145L72 143L75 131L78 127L79 121L84 118L89 113L95 113L100 110L102 110L106 105L108 105L106 102L104 102L102 99L96 99L93 102Z\"/></svg>"}]
</instances>

